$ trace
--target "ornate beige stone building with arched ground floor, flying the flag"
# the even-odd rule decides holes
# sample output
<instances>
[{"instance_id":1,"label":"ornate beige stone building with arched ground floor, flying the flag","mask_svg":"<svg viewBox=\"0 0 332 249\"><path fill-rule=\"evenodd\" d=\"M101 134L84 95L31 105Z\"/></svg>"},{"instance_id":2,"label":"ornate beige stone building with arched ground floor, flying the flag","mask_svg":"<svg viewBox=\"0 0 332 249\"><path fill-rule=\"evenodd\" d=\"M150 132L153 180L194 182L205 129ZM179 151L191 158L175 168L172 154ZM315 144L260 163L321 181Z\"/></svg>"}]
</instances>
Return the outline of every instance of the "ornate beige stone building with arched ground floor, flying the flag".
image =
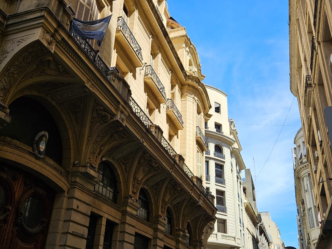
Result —
<instances>
[{"instance_id":1,"label":"ornate beige stone building with arched ground floor, flying the flag","mask_svg":"<svg viewBox=\"0 0 332 249\"><path fill-rule=\"evenodd\" d=\"M0 0L0 248L206 248L204 77L165 0Z\"/></svg>"}]
</instances>

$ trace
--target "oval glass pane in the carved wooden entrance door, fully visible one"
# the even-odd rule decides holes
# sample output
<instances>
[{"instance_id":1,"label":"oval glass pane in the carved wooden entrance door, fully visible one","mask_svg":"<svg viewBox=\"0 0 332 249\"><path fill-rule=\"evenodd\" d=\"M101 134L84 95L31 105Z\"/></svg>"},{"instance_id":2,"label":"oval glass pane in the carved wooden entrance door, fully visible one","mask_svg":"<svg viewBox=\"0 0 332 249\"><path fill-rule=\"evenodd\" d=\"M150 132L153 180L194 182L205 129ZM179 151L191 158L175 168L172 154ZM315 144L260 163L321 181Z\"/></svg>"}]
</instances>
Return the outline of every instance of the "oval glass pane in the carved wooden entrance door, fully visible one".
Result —
<instances>
[{"instance_id":1,"label":"oval glass pane in the carved wooden entrance door, fully visible one","mask_svg":"<svg viewBox=\"0 0 332 249\"><path fill-rule=\"evenodd\" d=\"M28 228L35 228L43 218L41 202L34 197L30 197L25 202L22 211L24 213L24 224Z\"/></svg>"}]
</instances>

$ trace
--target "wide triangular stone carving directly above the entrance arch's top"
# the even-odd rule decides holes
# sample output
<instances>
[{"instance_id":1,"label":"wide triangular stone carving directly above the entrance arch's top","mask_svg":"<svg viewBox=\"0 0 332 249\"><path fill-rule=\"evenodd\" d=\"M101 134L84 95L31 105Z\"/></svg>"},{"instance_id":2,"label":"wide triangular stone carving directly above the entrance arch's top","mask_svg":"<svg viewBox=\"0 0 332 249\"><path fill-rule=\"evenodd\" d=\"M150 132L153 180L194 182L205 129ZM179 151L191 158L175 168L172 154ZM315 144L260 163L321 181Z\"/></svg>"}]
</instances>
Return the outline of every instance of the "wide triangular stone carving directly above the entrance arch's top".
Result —
<instances>
[{"instance_id":1,"label":"wide triangular stone carving directly above the entrance arch's top","mask_svg":"<svg viewBox=\"0 0 332 249\"><path fill-rule=\"evenodd\" d=\"M46 56L37 64L30 68L23 78L34 78L43 75L61 75L73 77L60 63L58 63L52 56Z\"/></svg>"}]
</instances>

